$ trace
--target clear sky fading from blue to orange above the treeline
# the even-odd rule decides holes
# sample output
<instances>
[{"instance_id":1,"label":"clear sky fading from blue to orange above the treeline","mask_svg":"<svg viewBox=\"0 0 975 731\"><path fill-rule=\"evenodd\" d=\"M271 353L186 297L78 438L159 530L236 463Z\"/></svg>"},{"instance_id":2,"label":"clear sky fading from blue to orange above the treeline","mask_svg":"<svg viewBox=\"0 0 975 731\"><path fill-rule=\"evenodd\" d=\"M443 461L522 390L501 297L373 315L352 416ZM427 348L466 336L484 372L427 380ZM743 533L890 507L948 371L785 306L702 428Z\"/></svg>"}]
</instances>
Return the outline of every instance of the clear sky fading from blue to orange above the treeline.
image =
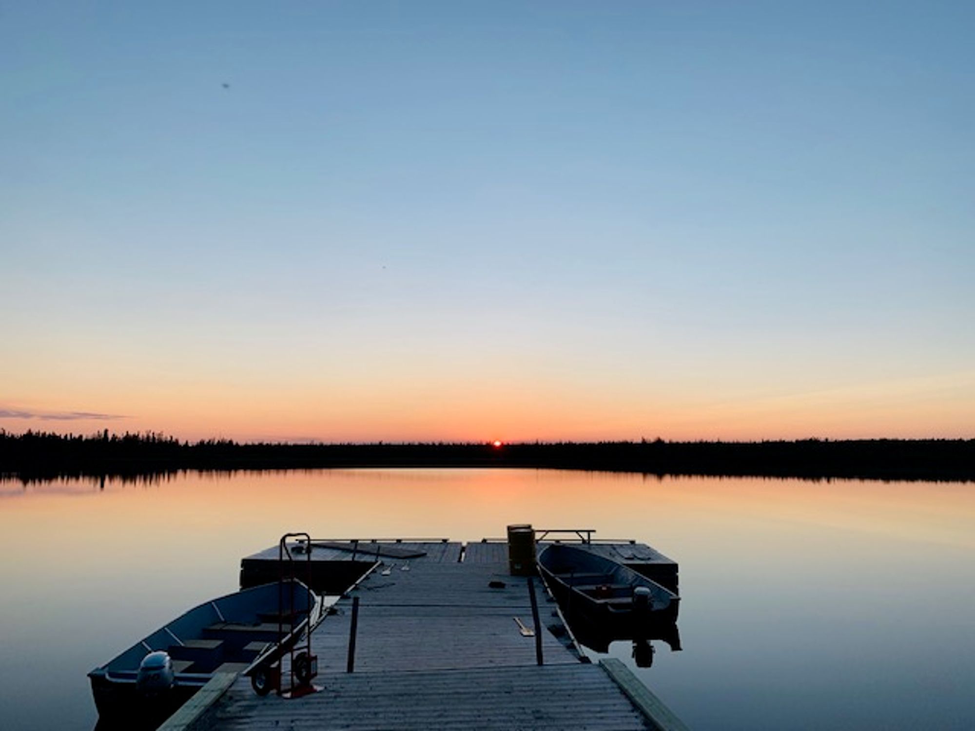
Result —
<instances>
[{"instance_id":1,"label":"clear sky fading from blue to orange above the treeline","mask_svg":"<svg viewBox=\"0 0 975 731\"><path fill-rule=\"evenodd\" d=\"M6 3L0 428L973 438L973 27Z\"/></svg>"}]
</instances>

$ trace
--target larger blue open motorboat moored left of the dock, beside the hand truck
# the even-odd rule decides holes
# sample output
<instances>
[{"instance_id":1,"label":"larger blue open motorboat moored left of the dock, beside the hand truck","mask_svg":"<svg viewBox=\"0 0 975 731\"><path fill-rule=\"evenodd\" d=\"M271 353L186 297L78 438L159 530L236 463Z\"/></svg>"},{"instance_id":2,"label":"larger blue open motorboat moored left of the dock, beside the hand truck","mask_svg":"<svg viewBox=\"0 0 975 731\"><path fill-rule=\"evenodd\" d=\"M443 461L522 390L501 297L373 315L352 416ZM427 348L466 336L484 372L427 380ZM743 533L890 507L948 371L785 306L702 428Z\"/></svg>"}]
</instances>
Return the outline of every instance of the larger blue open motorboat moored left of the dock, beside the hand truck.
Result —
<instances>
[{"instance_id":1,"label":"larger blue open motorboat moored left of the dock, beside the hand truck","mask_svg":"<svg viewBox=\"0 0 975 731\"><path fill-rule=\"evenodd\" d=\"M98 727L117 719L154 728L215 673L250 673L271 662L322 616L322 598L299 581L206 601L88 673Z\"/></svg>"}]
</instances>

